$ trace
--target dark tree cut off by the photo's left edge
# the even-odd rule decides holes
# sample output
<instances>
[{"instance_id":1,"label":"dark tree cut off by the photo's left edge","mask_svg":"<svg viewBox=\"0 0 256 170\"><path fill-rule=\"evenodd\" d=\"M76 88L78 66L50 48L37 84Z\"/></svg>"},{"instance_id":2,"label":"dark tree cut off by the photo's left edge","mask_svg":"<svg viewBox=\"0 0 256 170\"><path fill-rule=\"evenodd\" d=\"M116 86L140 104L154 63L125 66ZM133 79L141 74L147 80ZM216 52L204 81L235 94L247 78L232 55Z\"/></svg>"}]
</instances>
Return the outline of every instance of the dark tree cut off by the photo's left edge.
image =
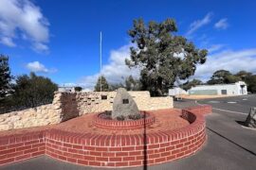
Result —
<instances>
[{"instance_id":1,"label":"dark tree cut off by the photo's left edge","mask_svg":"<svg viewBox=\"0 0 256 170\"><path fill-rule=\"evenodd\" d=\"M0 101L10 92L10 76L9 57L0 55Z\"/></svg>"}]
</instances>

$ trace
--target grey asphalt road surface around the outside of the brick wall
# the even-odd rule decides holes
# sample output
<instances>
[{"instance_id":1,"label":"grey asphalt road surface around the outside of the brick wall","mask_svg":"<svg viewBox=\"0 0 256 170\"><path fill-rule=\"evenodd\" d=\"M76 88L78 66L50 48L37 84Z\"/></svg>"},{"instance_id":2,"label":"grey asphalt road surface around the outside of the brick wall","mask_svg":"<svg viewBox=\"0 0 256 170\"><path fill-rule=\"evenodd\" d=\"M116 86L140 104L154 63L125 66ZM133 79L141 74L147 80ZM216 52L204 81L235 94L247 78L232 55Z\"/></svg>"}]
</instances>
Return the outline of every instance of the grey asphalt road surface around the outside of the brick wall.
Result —
<instances>
[{"instance_id":1,"label":"grey asphalt road surface around the outside of the brick wall","mask_svg":"<svg viewBox=\"0 0 256 170\"><path fill-rule=\"evenodd\" d=\"M247 100L245 100L245 98ZM213 102L212 102L213 101ZM231 103L230 103L231 101ZM256 130L242 127L237 121L243 122L250 107L256 105L256 96L239 96L229 98L207 99L199 104L210 104L213 113L206 117L208 142L195 155L150 167L125 168L129 170L255 170L256 169ZM228 103L229 102L229 103ZM236 102L236 103L234 103ZM194 100L174 102L176 108L197 105ZM229 111L231 110L231 111ZM239 113L239 112L244 112ZM63 161L52 160L46 156L12 163L0 167L3 170L98 170L102 168L83 167Z\"/></svg>"}]
</instances>

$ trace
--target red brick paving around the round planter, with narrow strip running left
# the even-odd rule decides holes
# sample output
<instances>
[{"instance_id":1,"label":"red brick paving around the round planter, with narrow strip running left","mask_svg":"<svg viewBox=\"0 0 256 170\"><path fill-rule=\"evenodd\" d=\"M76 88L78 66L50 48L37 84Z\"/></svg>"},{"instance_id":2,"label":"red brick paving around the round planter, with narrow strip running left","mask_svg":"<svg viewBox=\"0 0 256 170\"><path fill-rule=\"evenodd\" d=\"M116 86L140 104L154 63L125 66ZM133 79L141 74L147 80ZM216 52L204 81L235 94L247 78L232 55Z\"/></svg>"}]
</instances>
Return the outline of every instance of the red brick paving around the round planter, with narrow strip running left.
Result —
<instances>
[{"instance_id":1,"label":"red brick paving around the round planter, with narrow strip running left","mask_svg":"<svg viewBox=\"0 0 256 170\"><path fill-rule=\"evenodd\" d=\"M162 129L175 129L179 127L186 127L190 125L190 123L181 118L181 110L157 110L157 111L150 111L153 114L157 112L157 118L155 119L155 124L147 127L148 132L158 131ZM26 134L34 131L39 130L46 130L46 129L62 129L69 132L79 132L79 133L100 133L100 134L127 134L127 132L136 134L141 133L143 130L141 129L133 129L133 130L109 130L109 129L102 129L99 127L95 127L92 124L93 116L95 113L85 114L81 117L77 117L61 124L57 125L50 125L50 126L43 126L43 127L26 127L26 128L18 128L18 129L11 129L6 131L0 131L1 136L8 136L8 135L18 135L18 134Z\"/></svg>"}]
</instances>

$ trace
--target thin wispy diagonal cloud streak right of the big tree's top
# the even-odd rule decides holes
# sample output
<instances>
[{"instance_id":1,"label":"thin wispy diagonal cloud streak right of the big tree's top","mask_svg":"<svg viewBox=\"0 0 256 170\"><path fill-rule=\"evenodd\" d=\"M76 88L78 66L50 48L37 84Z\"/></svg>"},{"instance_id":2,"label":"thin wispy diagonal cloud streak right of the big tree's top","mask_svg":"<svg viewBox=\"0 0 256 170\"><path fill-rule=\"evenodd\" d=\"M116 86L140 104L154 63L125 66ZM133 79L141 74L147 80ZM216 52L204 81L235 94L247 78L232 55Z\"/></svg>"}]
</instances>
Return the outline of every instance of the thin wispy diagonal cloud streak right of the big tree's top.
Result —
<instances>
[{"instance_id":1,"label":"thin wispy diagonal cloud streak right of the big tree's top","mask_svg":"<svg viewBox=\"0 0 256 170\"><path fill-rule=\"evenodd\" d=\"M194 31L199 29L202 26L206 26L210 23L213 13L209 12L202 20L196 20L192 22L190 29L186 33L187 36L190 36Z\"/></svg>"}]
</instances>

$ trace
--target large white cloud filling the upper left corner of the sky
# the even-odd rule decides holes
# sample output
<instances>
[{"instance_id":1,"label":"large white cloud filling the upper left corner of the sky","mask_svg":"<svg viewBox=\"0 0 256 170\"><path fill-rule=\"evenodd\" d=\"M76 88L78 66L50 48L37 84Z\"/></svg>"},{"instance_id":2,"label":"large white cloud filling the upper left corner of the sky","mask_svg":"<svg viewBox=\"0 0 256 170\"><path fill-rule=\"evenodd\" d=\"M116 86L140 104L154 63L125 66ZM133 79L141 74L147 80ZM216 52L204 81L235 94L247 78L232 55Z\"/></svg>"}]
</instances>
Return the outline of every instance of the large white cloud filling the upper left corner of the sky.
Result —
<instances>
[{"instance_id":1,"label":"large white cloud filling the upper left corner of the sky","mask_svg":"<svg viewBox=\"0 0 256 170\"><path fill-rule=\"evenodd\" d=\"M14 40L21 38L31 42L36 51L46 51L46 43L49 41L48 26L41 9L29 0L0 1L1 43L15 46Z\"/></svg>"}]
</instances>

